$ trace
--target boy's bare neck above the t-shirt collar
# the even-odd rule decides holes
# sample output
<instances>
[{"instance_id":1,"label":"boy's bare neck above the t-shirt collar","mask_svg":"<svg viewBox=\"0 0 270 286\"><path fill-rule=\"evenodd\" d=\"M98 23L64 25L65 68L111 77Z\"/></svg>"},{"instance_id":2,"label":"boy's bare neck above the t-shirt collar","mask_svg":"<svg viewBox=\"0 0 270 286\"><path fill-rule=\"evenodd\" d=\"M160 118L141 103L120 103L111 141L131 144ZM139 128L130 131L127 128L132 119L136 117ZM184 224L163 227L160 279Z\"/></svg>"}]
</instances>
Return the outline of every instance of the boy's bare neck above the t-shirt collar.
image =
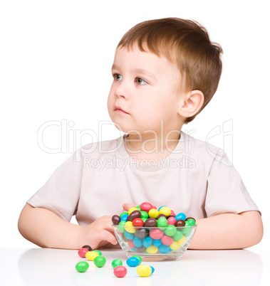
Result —
<instances>
[{"instance_id":1,"label":"boy's bare neck above the t-shirt collar","mask_svg":"<svg viewBox=\"0 0 270 286\"><path fill-rule=\"evenodd\" d=\"M164 160L170 156L180 140L180 131L165 134L128 134L124 139L125 149L133 159Z\"/></svg>"}]
</instances>

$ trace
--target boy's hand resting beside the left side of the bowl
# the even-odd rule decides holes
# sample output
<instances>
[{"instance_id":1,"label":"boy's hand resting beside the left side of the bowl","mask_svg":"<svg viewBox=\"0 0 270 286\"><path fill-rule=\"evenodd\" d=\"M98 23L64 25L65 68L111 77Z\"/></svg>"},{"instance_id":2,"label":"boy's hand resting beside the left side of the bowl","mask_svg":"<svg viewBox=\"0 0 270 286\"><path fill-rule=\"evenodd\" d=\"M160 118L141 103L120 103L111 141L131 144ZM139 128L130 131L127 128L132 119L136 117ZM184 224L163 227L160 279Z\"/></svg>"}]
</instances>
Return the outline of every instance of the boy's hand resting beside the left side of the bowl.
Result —
<instances>
[{"instance_id":1,"label":"boy's hand resting beside the left side of the bowl","mask_svg":"<svg viewBox=\"0 0 270 286\"><path fill-rule=\"evenodd\" d=\"M81 245L88 244L97 249L108 243L116 245L118 242L113 234L112 216L101 216L93 223L81 229Z\"/></svg>"}]
</instances>

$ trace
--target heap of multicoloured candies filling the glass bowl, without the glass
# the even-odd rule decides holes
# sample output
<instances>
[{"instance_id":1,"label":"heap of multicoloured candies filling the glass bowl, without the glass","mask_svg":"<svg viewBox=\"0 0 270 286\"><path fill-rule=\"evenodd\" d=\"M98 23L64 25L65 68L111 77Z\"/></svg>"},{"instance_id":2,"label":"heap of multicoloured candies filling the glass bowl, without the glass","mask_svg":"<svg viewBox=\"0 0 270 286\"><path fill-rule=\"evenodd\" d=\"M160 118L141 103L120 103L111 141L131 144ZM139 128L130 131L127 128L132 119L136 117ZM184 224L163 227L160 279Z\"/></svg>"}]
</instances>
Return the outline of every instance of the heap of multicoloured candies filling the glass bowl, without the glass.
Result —
<instances>
[{"instance_id":1,"label":"heap of multicoloured candies filling the glass bowl, without the glass","mask_svg":"<svg viewBox=\"0 0 270 286\"><path fill-rule=\"evenodd\" d=\"M175 215L167 206L157 209L148 202L130 208L120 216L113 216L112 221L118 225L118 234L130 250L150 254L178 250L192 233L192 228L188 226L195 226L196 223L194 218L187 218L185 213Z\"/></svg>"}]
</instances>

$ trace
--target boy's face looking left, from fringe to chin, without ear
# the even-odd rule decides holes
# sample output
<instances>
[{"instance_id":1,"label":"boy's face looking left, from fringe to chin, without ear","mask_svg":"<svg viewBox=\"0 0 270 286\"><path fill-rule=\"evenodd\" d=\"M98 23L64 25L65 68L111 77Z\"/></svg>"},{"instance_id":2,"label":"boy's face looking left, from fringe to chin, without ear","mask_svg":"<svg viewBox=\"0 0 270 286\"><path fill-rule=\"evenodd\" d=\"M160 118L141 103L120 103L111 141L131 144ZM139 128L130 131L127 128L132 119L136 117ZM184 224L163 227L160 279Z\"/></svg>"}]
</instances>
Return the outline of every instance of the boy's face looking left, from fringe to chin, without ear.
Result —
<instances>
[{"instance_id":1,"label":"boy's face looking left, from fringe to chin, without ear","mask_svg":"<svg viewBox=\"0 0 270 286\"><path fill-rule=\"evenodd\" d=\"M118 48L112 68L113 83L108 96L108 112L115 126L126 133L146 130L160 134L181 129L177 114L181 75L177 66L154 53ZM122 110L115 109L120 107ZM137 132L130 132L130 130ZM166 134L164 134L166 135Z\"/></svg>"}]
</instances>

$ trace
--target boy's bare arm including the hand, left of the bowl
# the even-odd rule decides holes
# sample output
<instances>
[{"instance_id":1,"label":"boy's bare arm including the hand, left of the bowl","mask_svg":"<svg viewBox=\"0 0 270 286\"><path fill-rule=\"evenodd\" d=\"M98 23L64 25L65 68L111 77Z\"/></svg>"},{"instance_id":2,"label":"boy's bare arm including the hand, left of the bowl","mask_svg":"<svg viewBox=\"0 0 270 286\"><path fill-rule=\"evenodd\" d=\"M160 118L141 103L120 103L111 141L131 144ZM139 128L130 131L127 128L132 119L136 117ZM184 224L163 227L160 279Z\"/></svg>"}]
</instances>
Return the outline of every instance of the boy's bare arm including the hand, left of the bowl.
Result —
<instances>
[{"instance_id":1,"label":"boy's bare arm including the hand, left of the bowl","mask_svg":"<svg viewBox=\"0 0 270 286\"><path fill-rule=\"evenodd\" d=\"M18 222L21 235L42 248L93 249L108 243L116 244L111 216L103 216L89 226L68 223L46 208L34 208L26 203Z\"/></svg>"}]
</instances>

